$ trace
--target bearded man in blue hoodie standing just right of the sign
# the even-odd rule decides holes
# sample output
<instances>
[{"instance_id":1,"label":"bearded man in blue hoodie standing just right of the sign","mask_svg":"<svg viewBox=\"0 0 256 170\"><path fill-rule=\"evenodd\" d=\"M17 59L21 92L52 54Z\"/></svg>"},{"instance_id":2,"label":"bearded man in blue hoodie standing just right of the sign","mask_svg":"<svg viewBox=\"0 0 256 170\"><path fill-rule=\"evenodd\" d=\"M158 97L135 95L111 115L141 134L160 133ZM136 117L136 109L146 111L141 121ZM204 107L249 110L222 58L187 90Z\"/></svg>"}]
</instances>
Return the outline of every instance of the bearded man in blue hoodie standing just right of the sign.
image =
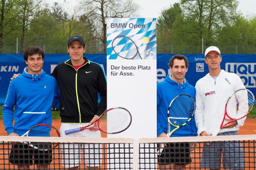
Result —
<instances>
[{"instance_id":1,"label":"bearded man in blue hoodie standing just right of the sign","mask_svg":"<svg viewBox=\"0 0 256 170\"><path fill-rule=\"evenodd\" d=\"M164 81L157 83L157 137L167 137L167 110L174 97L179 94L188 94L194 100L196 99L195 87L188 84L185 79L185 74L188 71L187 58L180 54L174 55L168 65L172 74L167 75ZM187 136L197 136L194 117L185 126L180 127L171 135L171 137ZM190 150L188 143L175 143L175 148L177 148L175 151L173 147L173 143L167 144L165 150L163 150L165 154L160 154L158 158L160 169L181 169L191 162L189 151L193 150L193 144L190 144ZM173 158L174 153L175 159Z\"/></svg>"}]
</instances>

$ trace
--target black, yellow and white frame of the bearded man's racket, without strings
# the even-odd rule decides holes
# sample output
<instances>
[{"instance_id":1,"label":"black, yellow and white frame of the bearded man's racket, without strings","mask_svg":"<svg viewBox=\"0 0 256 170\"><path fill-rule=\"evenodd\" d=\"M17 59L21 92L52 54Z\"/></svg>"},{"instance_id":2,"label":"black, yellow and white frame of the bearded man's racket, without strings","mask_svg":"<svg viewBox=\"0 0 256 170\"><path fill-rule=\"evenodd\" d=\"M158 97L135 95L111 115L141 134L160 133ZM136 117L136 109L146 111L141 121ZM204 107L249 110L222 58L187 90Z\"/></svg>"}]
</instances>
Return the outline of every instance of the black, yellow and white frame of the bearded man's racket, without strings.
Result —
<instances>
[{"instance_id":1,"label":"black, yellow and white frame of the bearded man's racket, without strings","mask_svg":"<svg viewBox=\"0 0 256 170\"><path fill-rule=\"evenodd\" d=\"M193 102L194 102L194 112L193 112L193 114L191 115L191 117L188 118L188 120L187 120L185 123L183 123L182 125L179 126L179 125L174 125L174 124L171 123L171 121L169 120L169 110L170 110L170 108L171 108L171 105L172 105L173 101L174 101L177 97L179 97L179 96L181 96L181 95L186 95L186 96L190 97L190 98L193 100ZM195 110L196 110L196 103L195 103L195 100L193 99L193 97L191 97L190 95L188 95L188 94L179 94L179 95L177 95L176 97L174 97L174 98L172 99L172 101L171 101L171 103L170 103L170 105L169 105L168 111L167 111L168 130L167 130L166 136L167 136L167 137L170 137L171 134L173 134L173 132L175 132L177 129L179 129L179 128L182 127L182 126L185 126L185 125L192 119L192 117L193 117L193 115L194 115L194 113L195 113ZM185 118L184 118L184 119L185 119ZM170 127L170 124L175 127L171 132L170 132L170 128L171 128L171 127Z\"/></svg>"}]
</instances>

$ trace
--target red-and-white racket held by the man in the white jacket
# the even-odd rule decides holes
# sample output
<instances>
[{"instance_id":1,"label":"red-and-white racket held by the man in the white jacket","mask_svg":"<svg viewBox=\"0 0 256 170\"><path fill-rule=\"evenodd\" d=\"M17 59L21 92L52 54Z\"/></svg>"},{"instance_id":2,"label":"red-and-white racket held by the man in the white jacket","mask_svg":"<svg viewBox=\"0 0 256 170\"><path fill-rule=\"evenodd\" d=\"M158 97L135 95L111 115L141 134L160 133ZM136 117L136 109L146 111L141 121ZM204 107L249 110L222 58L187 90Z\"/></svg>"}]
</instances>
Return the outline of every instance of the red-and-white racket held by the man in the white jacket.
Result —
<instances>
[{"instance_id":1,"label":"red-and-white racket held by the man in the white jacket","mask_svg":"<svg viewBox=\"0 0 256 170\"><path fill-rule=\"evenodd\" d=\"M223 126L242 119L249 114L254 106L255 97L250 90L238 89L236 90L227 100L225 106L225 113L221 126L212 134L212 136L217 136ZM225 118L231 119L231 121L224 123Z\"/></svg>"}]
</instances>

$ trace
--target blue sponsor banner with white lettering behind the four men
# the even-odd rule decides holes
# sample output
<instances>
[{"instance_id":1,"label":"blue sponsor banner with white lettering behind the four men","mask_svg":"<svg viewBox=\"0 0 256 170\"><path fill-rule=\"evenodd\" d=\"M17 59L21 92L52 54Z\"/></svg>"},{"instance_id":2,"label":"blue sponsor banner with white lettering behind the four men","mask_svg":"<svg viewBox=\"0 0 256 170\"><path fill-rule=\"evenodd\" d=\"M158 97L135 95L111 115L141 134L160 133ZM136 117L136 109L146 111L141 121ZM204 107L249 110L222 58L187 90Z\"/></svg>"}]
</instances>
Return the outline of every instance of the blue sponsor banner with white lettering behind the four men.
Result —
<instances>
[{"instance_id":1,"label":"blue sponsor banner with white lettering behind the four men","mask_svg":"<svg viewBox=\"0 0 256 170\"><path fill-rule=\"evenodd\" d=\"M195 86L197 80L208 74L208 65L204 62L203 54L183 55L188 58L189 62L186 79ZM167 64L172 56L173 54L157 54L157 82L163 81L170 73ZM86 54L85 57L101 64L106 73L106 54ZM50 74L55 65L68 59L68 54L46 54L43 69ZM0 104L4 103L10 78L13 74L23 73L25 67L26 63L22 54L0 54ZM256 55L223 54L221 68L226 72L239 75L245 87L256 95ZM24 90L28 90L29 93L29 88Z\"/></svg>"}]
</instances>

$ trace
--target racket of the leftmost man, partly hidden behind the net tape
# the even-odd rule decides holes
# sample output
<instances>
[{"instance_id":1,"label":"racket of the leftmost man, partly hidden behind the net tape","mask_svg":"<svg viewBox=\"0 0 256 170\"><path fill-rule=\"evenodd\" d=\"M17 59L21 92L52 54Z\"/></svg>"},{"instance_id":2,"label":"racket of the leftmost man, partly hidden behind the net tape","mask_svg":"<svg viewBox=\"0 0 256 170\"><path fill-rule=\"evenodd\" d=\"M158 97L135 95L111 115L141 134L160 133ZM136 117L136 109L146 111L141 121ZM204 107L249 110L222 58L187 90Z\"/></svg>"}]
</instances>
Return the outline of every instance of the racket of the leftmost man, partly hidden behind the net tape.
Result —
<instances>
[{"instance_id":1,"label":"racket of the leftmost man, partly hidden behind the net tape","mask_svg":"<svg viewBox=\"0 0 256 170\"><path fill-rule=\"evenodd\" d=\"M24 135L31 137L60 137L58 130L47 124L38 124L31 127ZM22 142L20 142L22 143ZM30 147L34 149L39 149L41 151L51 150L55 148L58 144L53 142L23 142L27 143Z\"/></svg>"}]
</instances>

